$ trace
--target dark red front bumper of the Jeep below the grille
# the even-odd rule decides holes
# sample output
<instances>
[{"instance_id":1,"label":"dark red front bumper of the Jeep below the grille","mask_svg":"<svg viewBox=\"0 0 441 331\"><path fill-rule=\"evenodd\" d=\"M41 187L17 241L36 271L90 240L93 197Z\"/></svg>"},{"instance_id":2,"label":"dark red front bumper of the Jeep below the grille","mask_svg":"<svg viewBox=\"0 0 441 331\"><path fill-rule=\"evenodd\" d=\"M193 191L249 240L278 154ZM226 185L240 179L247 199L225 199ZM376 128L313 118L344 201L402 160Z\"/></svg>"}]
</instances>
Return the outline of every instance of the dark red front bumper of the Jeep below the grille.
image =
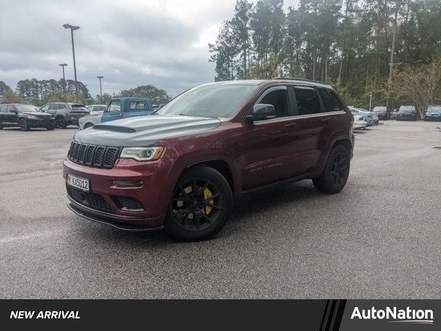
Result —
<instances>
[{"instance_id":1,"label":"dark red front bumper of the Jeep below the grille","mask_svg":"<svg viewBox=\"0 0 441 331\"><path fill-rule=\"evenodd\" d=\"M88 179L90 194L72 194L68 189L69 208L87 219L107 223L124 230L148 230L161 227L174 186L167 181L168 172L174 159L138 162L132 159L118 159L112 169L92 168L76 164L68 159L63 161L63 177L67 174ZM136 187L121 187L116 181L139 181ZM68 188L71 188L67 185ZM93 199L105 208L99 208ZM128 210L121 208L119 199L134 199L142 208Z\"/></svg>"}]
</instances>

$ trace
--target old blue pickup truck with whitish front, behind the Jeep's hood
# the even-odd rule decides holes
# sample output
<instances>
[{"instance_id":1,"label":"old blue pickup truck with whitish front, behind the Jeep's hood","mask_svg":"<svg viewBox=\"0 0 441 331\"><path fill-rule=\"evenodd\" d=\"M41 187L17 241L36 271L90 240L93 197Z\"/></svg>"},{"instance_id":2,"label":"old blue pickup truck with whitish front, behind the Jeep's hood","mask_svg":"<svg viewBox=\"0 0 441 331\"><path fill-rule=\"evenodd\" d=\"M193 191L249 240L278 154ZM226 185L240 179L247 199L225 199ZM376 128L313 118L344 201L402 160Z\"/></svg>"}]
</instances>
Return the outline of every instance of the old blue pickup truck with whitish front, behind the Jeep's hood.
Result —
<instances>
[{"instance_id":1,"label":"old blue pickup truck with whitish front, behind the Jeep's hood","mask_svg":"<svg viewBox=\"0 0 441 331\"><path fill-rule=\"evenodd\" d=\"M91 128L96 124L127 117L150 115L154 112L152 101L147 98L116 98L110 100L107 108L94 116L88 116L79 121L80 130Z\"/></svg>"}]
</instances>

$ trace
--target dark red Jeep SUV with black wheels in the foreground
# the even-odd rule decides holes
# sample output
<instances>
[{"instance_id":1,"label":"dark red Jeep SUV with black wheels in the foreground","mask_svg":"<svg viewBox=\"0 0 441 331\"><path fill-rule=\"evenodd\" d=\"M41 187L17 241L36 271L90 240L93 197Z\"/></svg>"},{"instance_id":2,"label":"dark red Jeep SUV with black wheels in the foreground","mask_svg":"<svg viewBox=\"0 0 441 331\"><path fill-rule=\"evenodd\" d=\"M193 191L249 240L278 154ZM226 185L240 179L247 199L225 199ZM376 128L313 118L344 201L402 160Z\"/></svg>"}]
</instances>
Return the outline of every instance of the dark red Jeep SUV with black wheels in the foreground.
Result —
<instances>
[{"instance_id":1,"label":"dark red Jeep SUV with black wheels in the foreground","mask_svg":"<svg viewBox=\"0 0 441 331\"><path fill-rule=\"evenodd\" d=\"M77 132L63 161L68 206L124 230L206 239L247 192L302 179L342 190L352 125L334 88L314 81L198 86L153 115Z\"/></svg>"}]
</instances>

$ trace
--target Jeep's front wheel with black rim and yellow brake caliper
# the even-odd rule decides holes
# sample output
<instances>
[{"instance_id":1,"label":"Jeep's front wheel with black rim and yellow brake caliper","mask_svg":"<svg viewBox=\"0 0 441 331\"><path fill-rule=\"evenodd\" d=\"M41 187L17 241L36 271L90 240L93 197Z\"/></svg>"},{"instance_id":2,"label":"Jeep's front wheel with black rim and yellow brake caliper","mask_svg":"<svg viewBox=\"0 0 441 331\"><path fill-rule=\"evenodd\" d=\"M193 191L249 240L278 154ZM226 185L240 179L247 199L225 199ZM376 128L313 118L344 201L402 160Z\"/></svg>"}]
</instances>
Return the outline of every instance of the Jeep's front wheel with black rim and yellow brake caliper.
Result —
<instances>
[{"instance_id":1,"label":"Jeep's front wheel with black rim and yellow brake caliper","mask_svg":"<svg viewBox=\"0 0 441 331\"><path fill-rule=\"evenodd\" d=\"M203 166L189 168L174 188L165 232L182 241L209 239L223 228L232 205L232 190L220 172Z\"/></svg>"}]
</instances>

